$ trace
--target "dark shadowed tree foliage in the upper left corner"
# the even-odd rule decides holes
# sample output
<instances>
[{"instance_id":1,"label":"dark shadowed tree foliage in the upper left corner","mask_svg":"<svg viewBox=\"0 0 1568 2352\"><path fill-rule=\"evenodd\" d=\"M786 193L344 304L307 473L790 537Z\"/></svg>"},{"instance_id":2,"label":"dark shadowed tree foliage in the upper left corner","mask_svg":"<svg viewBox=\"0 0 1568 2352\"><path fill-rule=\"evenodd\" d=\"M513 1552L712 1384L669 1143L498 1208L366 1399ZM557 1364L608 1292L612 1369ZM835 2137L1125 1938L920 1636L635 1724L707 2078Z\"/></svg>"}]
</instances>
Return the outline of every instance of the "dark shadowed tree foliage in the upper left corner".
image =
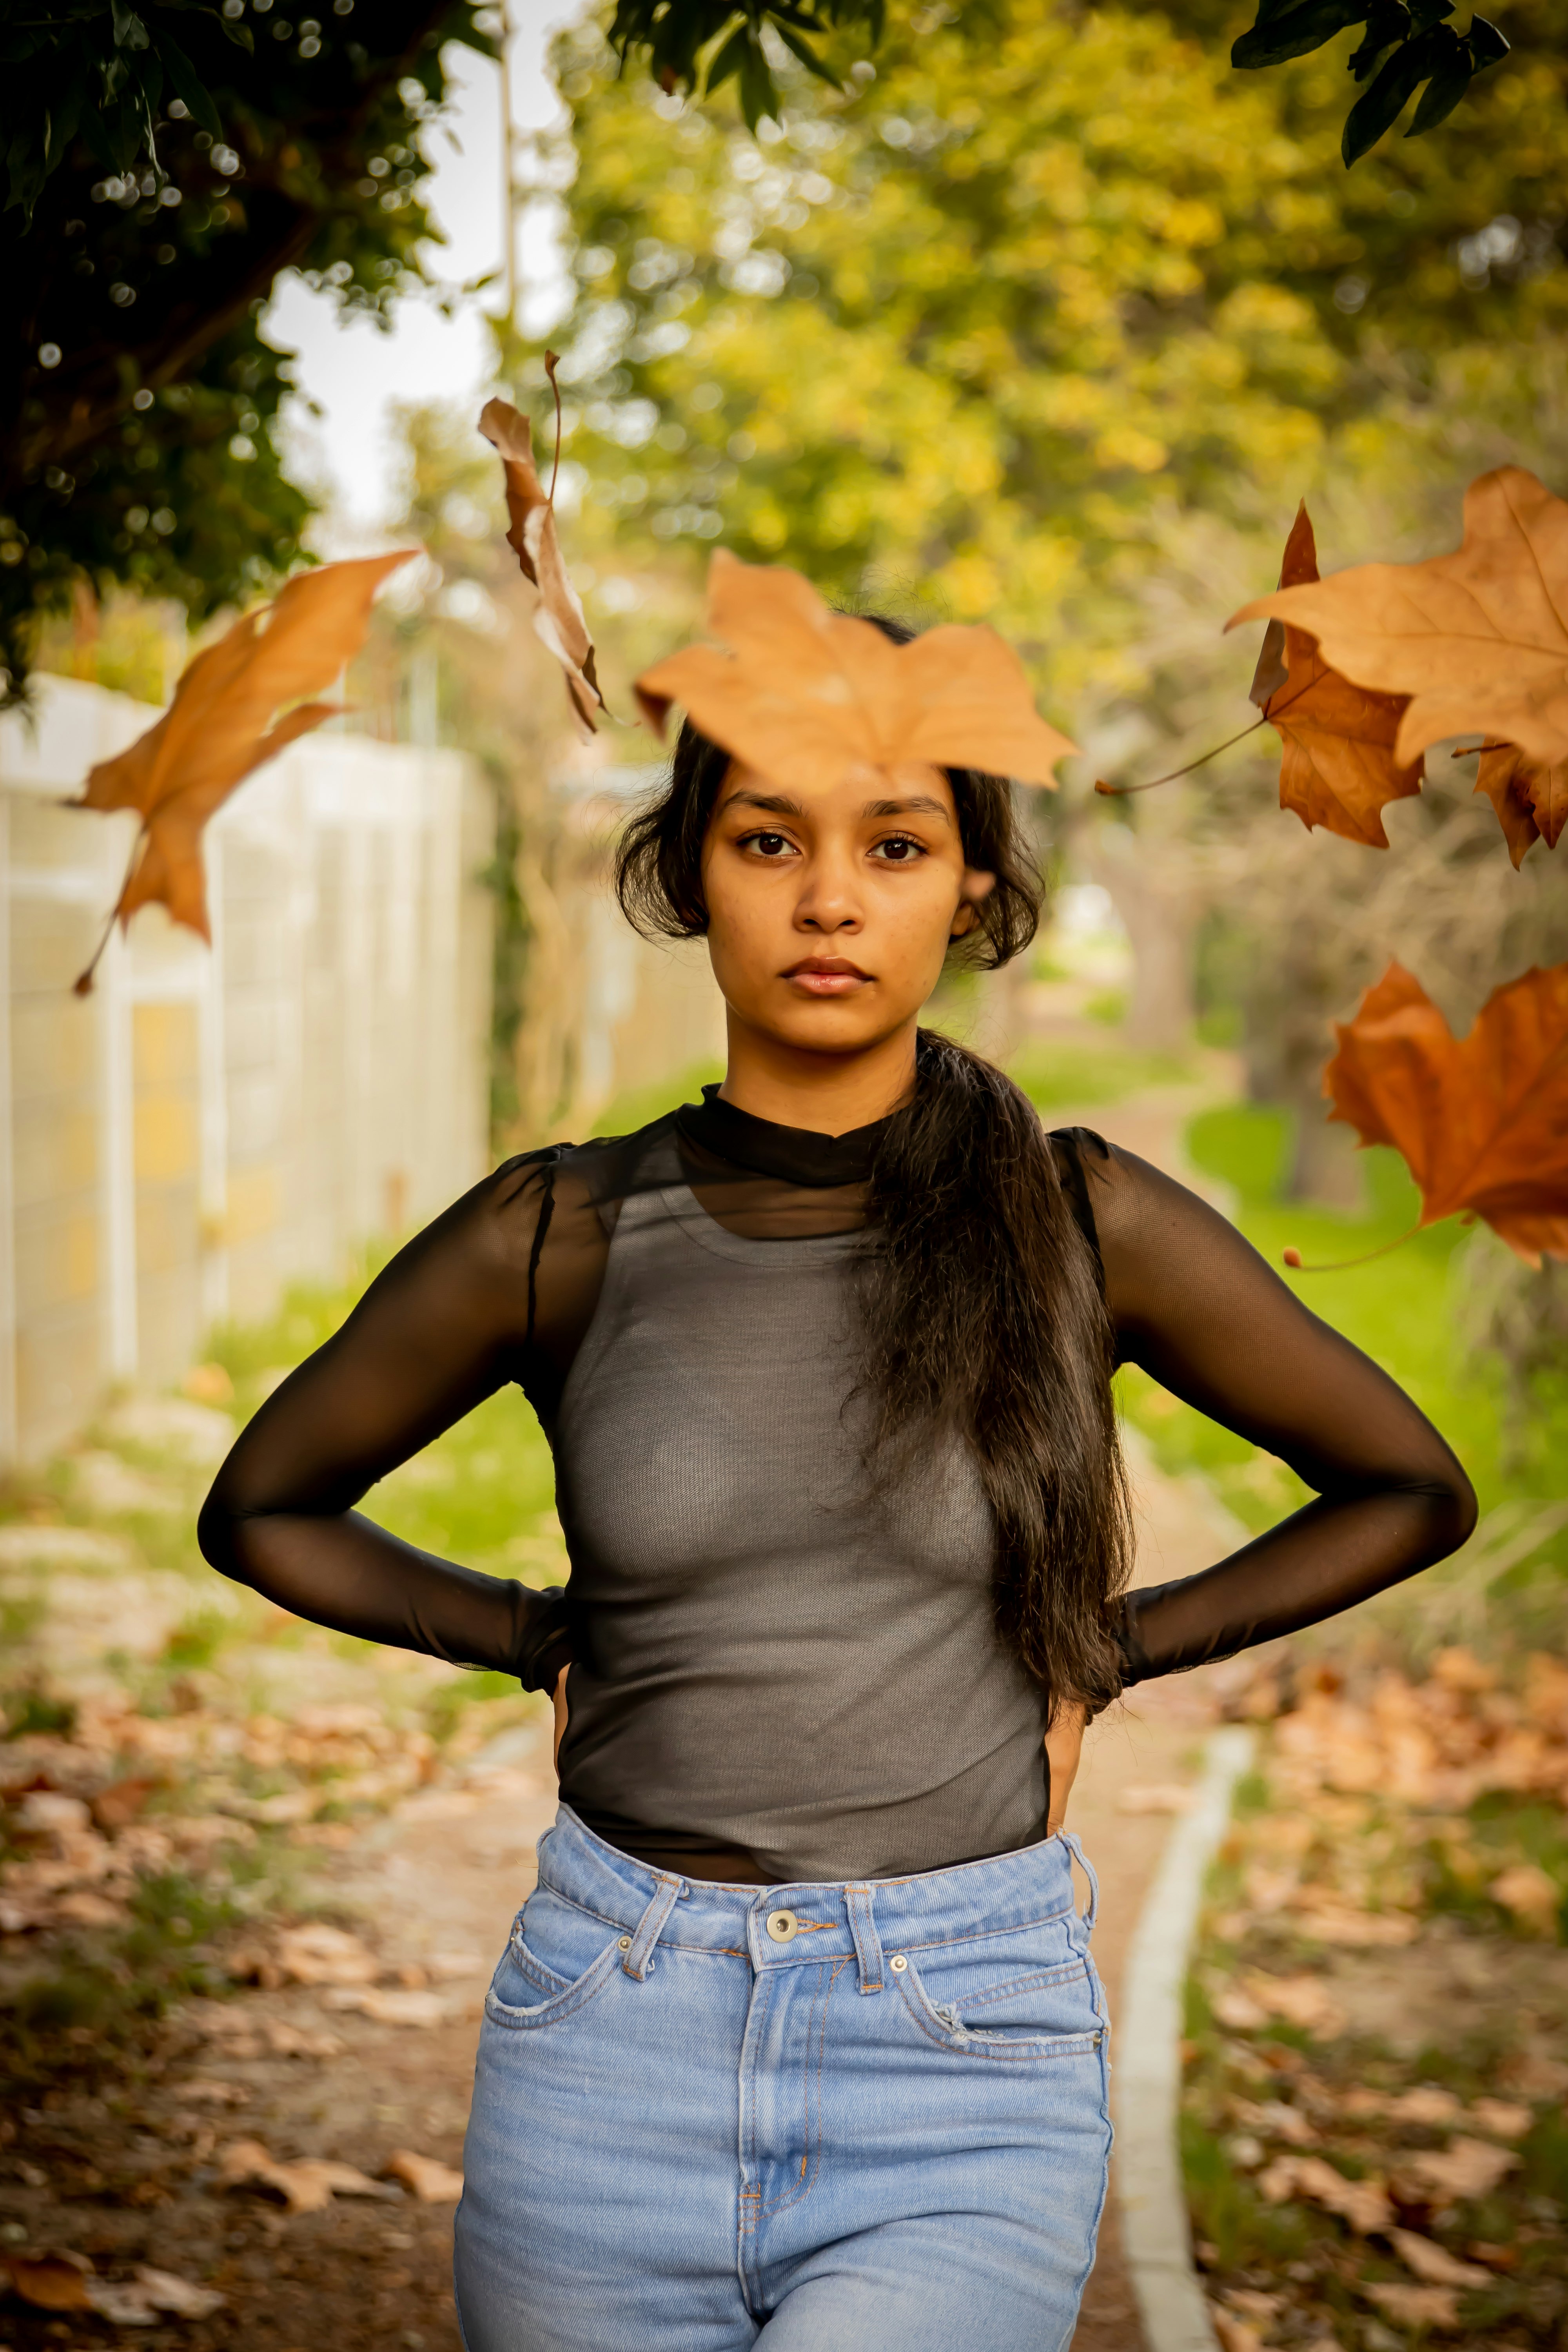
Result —
<instances>
[{"instance_id":1,"label":"dark shadowed tree foliage in the upper left corner","mask_svg":"<svg viewBox=\"0 0 1568 2352\"><path fill-rule=\"evenodd\" d=\"M287 0L284 0L287 5ZM301 555L273 445L282 268L386 318L433 238L421 125L473 0L31 0L0 31L12 341L0 372L0 668L80 579L193 619Z\"/></svg>"}]
</instances>

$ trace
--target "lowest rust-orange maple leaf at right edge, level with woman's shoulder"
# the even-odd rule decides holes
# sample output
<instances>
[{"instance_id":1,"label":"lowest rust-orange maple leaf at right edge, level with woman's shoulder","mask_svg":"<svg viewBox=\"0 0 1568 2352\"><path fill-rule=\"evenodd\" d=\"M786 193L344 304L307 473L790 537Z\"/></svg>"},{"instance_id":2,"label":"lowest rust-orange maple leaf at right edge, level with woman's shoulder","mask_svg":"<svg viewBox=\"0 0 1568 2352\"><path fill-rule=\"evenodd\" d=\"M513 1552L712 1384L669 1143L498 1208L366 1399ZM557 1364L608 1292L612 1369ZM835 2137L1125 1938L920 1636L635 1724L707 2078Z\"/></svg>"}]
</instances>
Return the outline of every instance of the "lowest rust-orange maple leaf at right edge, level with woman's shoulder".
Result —
<instances>
[{"instance_id":1,"label":"lowest rust-orange maple leaf at right edge, level with woman's shoulder","mask_svg":"<svg viewBox=\"0 0 1568 2352\"><path fill-rule=\"evenodd\" d=\"M1495 988L1469 1037L1389 964L1335 1037L1331 1120L1394 1145L1422 1225L1469 1209L1530 1265L1568 1258L1568 964Z\"/></svg>"}]
</instances>

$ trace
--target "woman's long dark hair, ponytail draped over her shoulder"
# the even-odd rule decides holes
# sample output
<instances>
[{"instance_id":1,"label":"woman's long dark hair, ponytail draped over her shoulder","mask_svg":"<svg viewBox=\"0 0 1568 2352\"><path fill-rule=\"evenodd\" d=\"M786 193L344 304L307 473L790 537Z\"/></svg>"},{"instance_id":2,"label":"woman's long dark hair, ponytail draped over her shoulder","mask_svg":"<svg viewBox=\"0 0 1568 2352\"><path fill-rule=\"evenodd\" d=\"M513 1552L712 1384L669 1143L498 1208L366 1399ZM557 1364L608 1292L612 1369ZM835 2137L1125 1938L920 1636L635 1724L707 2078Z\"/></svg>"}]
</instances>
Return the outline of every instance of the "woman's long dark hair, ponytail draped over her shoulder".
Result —
<instances>
[{"instance_id":1,"label":"woman's long dark hair, ponytail draped over her shoulder","mask_svg":"<svg viewBox=\"0 0 1568 2352\"><path fill-rule=\"evenodd\" d=\"M896 621L870 619L903 644ZM616 896L649 936L701 938L703 842L729 753L686 722L670 783L628 823ZM997 877L954 957L994 971L1034 938L1044 884L1013 786L947 769L964 861ZM1131 1508L1110 1395L1114 1341L1093 1244L1030 1098L919 1030L914 1094L886 1122L860 1265L877 1449L903 1463L933 1428L973 1446L997 1519L997 1628L1060 1700L1119 1689L1110 1604Z\"/></svg>"}]
</instances>

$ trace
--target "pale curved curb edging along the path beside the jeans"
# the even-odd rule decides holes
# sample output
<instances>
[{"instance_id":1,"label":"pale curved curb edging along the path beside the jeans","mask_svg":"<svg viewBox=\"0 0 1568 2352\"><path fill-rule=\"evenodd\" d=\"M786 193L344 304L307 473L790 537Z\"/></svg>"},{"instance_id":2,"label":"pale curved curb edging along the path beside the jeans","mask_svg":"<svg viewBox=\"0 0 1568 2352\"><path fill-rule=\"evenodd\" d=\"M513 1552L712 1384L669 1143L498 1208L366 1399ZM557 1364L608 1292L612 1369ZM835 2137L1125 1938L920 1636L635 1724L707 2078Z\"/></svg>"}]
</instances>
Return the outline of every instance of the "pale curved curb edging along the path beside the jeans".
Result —
<instances>
[{"instance_id":1,"label":"pale curved curb edging along the path beside the jeans","mask_svg":"<svg viewBox=\"0 0 1568 2352\"><path fill-rule=\"evenodd\" d=\"M1112 2074L1121 2249L1147 2352L1220 2352L1192 2263L1182 2192L1182 1994L1204 1877L1225 1837L1232 1795L1253 1762L1253 1733L1239 1724L1208 1738L1197 1799L1171 1830L1138 1915L1121 1983L1119 2058Z\"/></svg>"}]
</instances>

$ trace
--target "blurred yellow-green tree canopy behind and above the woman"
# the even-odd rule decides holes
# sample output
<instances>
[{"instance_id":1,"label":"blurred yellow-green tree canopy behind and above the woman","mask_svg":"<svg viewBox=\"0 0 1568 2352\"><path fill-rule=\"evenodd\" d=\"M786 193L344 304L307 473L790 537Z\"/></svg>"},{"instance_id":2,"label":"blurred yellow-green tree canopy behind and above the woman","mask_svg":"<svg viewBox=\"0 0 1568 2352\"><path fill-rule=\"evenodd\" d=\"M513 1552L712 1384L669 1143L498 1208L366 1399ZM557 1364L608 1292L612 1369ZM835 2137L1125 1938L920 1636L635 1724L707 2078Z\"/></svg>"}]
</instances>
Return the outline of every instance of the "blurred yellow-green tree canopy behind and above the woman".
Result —
<instances>
[{"instance_id":1,"label":"blurred yellow-green tree canopy behind and above the woman","mask_svg":"<svg viewBox=\"0 0 1568 2352\"><path fill-rule=\"evenodd\" d=\"M1114 607L1173 515L1276 548L1326 452L1446 414L1448 355L1559 348L1568 21L1519 14L1462 169L1401 141L1349 176L1331 61L1244 80L1133 7L1058 0L961 54L893 28L759 143L564 35L585 515L914 588L1065 684L1131 682Z\"/></svg>"}]
</instances>

